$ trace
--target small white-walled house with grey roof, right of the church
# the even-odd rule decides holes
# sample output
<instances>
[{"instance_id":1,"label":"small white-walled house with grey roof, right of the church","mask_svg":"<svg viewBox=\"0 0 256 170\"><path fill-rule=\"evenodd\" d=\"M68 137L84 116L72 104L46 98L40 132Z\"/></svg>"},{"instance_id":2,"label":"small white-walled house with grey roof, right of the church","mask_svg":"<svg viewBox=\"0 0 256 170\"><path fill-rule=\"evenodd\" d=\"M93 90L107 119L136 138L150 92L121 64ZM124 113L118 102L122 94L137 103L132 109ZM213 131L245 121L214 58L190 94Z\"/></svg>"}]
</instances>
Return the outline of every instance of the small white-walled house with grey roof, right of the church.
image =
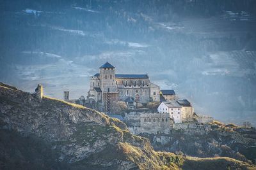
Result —
<instances>
[{"instance_id":1,"label":"small white-walled house with grey roof, right of the church","mask_svg":"<svg viewBox=\"0 0 256 170\"><path fill-rule=\"evenodd\" d=\"M181 106L176 101L162 102L157 111L159 113L169 113L170 118L173 119L174 124L181 123Z\"/></svg>"}]
</instances>

